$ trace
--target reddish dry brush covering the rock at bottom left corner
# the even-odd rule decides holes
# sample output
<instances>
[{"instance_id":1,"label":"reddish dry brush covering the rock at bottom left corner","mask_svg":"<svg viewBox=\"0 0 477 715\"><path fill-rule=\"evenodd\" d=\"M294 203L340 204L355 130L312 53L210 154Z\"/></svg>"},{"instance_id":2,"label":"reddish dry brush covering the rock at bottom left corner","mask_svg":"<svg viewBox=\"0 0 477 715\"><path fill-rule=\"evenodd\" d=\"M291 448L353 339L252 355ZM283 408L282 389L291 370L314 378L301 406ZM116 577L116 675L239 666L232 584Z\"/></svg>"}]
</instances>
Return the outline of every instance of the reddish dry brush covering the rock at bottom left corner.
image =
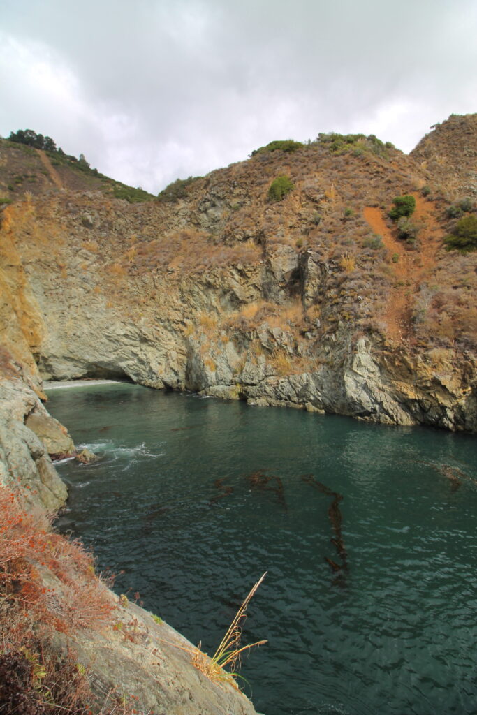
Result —
<instances>
[{"instance_id":1,"label":"reddish dry brush covering the rock at bottom left corner","mask_svg":"<svg viewBox=\"0 0 477 715\"><path fill-rule=\"evenodd\" d=\"M58 633L110 625L115 607L82 544L51 532L43 512L27 513L0 486L0 712L144 713L118 694L98 699L74 651L52 646Z\"/></svg>"}]
</instances>

